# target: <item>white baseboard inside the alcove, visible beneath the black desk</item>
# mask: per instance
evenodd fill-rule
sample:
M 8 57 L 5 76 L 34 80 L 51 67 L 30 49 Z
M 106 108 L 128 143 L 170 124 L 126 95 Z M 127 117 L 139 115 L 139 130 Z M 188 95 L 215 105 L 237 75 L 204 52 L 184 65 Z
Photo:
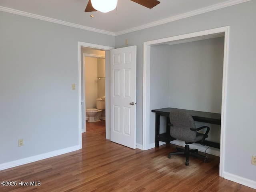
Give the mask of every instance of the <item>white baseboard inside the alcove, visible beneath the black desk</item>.
M 171 141 L 170 143 L 178 145 L 178 146 L 185 147 L 184 141 L 174 140 L 174 141 Z M 159 142 L 159 146 L 164 145 L 164 144 L 166 144 L 166 143 L 162 142 L 162 141 Z M 149 147 L 150 147 L 150 149 L 155 148 L 155 143 L 150 144 Z M 205 150 L 208 146 L 203 146 L 203 145 L 200 145 L 200 144 L 190 144 L 189 147 L 191 149 L 198 149 L 198 151 L 200 151 L 200 152 L 205 152 Z M 220 149 L 210 147 L 206 150 L 206 153 L 211 154 L 211 155 L 215 155 L 215 156 L 220 156 Z

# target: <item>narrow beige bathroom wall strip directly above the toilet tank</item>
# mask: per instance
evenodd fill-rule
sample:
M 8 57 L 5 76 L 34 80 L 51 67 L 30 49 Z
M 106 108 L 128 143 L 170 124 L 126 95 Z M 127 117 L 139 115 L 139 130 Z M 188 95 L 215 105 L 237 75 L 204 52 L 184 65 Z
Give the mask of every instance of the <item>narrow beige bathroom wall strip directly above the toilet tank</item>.
M 105 59 L 98 58 L 98 98 L 105 96 Z

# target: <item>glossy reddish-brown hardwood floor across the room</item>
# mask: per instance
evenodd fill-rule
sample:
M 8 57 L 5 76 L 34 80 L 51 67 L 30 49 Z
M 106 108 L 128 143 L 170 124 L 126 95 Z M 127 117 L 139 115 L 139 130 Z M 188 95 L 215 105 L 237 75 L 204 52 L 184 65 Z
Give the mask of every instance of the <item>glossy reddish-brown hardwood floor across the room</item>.
M 104 121 L 87 123 L 82 150 L 0 171 L 0 192 L 256 192 L 219 177 L 219 158 L 172 156 L 174 145 L 133 150 L 105 139 Z M 30 182 L 40 186 L 30 186 Z M 18 186 L 29 182 L 29 186 Z

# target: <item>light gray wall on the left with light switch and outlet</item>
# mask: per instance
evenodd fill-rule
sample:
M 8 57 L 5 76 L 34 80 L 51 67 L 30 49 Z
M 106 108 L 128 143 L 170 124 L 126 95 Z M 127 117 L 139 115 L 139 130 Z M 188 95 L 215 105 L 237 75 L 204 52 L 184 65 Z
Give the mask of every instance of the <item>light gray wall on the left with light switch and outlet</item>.
M 0 164 L 79 145 L 78 41 L 115 37 L 6 12 L 0 29 Z

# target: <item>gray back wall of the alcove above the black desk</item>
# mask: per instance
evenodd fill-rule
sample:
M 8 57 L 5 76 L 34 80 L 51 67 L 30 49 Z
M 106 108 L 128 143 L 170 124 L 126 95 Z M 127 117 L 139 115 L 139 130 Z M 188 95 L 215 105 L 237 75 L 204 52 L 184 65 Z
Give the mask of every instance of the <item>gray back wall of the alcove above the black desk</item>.
M 224 37 L 170 46 L 170 106 L 221 113 Z

